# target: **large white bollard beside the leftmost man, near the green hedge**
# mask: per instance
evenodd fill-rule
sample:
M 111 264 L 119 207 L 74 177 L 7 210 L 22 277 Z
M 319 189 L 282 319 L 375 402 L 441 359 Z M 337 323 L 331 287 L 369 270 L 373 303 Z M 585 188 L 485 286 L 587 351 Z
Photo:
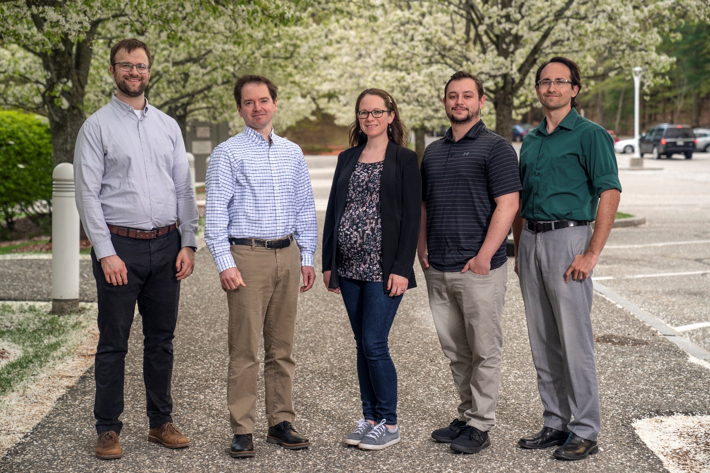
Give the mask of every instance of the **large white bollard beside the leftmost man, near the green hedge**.
M 79 212 L 74 200 L 74 165 L 52 173 L 52 312 L 79 311 Z

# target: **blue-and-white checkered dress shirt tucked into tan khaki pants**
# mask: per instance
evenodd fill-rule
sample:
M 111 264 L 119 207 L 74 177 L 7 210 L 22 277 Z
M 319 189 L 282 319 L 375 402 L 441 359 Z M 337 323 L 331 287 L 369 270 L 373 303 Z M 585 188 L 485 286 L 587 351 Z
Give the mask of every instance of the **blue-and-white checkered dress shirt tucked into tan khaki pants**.
M 204 241 L 221 273 L 236 268 L 229 238 L 281 239 L 290 234 L 301 266 L 313 266 L 318 238 L 306 161 L 297 144 L 249 126 L 212 151 L 204 190 Z

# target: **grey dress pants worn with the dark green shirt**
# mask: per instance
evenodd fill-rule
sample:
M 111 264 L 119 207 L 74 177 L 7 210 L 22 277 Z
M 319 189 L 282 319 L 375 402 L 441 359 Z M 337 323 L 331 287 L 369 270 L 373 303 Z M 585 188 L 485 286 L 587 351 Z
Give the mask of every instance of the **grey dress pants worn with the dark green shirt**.
M 589 246 L 592 229 L 568 227 L 520 236 L 518 272 L 545 427 L 587 440 L 599 435 L 599 384 L 591 327 L 591 278 L 564 283 L 564 272 Z

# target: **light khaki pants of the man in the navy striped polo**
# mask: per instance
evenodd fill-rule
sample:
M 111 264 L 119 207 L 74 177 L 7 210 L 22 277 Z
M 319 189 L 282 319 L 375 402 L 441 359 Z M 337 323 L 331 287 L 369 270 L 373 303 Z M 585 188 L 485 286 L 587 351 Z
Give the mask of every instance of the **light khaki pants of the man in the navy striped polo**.
M 508 266 L 491 269 L 487 276 L 444 273 L 430 266 L 424 276 L 439 342 L 451 361 L 461 398 L 459 420 L 491 430 L 501 385 L 501 317 Z

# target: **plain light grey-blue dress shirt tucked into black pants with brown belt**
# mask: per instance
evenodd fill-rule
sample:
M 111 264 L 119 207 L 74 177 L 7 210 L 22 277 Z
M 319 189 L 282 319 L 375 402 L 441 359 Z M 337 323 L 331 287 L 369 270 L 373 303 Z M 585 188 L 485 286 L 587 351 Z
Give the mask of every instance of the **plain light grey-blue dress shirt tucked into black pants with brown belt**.
M 116 254 L 107 223 L 150 230 L 178 222 L 195 247 L 197 202 L 178 122 L 114 95 L 84 121 L 74 151 L 76 202 L 97 259 Z

